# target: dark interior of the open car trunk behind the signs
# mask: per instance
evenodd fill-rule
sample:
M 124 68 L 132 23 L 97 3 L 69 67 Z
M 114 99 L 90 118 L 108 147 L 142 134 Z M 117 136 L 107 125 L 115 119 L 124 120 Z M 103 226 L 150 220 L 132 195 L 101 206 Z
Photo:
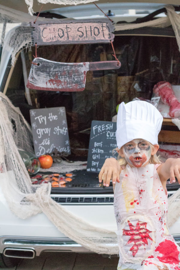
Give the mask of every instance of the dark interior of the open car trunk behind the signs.
M 120 69 L 88 71 L 85 90 L 81 92 L 30 89 L 32 105 L 27 100 L 23 74 L 29 74 L 35 47 L 32 47 L 32 52 L 23 50 L 14 67 L 6 95 L 14 106 L 20 108 L 29 124 L 30 109 L 65 107 L 71 147 L 71 155 L 67 158 L 70 161 L 84 161 L 86 165 L 92 120 L 112 121 L 116 115 L 116 106 L 122 101 L 129 102 L 139 97 L 150 100 L 153 86 L 159 81 L 179 84 L 179 50 L 173 29 L 145 28 L 115 32 L 113 45 L 122 65 Z M 102 43 L 39 46 L 37 49 L 38 57 L 59 62 L 114 60 L 112 54 L 112 46 Z M 2 87 L 3 83 L 1 91 Z M 169 128 L 178 131 L 176 126 Z M 161 143 L 164 142 L 160 142 L 160 148 Z M 57 172 L 49 171 L 49 174 L 52 173 Z M 63 188 L 52 187 L 52 194 L 113 194 L 112 183 L 110 187 L 103 187 L 98 182 L 98 173 L 87 172 L 85 166 L 84 170 L 75 170 L 73 174 L 73 180 Z M 167 184 L 167 188 L 176 190 L 178 185 Z M 76 199 L 76 202 L 79 200 Z M 99 201 L 94 199 L 94 202 L 100 201 L 105 202 L 105 198 Z M 106 199 L 106 202 L 113 202 L 113 199 Z

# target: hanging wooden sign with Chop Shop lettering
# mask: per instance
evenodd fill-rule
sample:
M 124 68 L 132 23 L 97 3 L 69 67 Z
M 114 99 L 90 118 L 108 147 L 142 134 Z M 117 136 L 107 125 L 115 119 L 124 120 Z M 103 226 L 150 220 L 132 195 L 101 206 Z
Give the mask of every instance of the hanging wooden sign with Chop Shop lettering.
M 114 40 L 109 19 L 38 21 L 30 23 L 32 45 L 108 43 Z

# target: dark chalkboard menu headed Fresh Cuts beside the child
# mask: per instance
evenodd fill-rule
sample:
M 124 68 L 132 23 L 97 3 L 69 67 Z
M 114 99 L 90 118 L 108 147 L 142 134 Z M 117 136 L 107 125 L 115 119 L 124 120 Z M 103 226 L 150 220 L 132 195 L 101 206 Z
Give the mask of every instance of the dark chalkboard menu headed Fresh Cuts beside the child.
M 116 147 L 116 122 L 92 121 L 87 171 L 99 173 L 106 158 L 117 157 Z

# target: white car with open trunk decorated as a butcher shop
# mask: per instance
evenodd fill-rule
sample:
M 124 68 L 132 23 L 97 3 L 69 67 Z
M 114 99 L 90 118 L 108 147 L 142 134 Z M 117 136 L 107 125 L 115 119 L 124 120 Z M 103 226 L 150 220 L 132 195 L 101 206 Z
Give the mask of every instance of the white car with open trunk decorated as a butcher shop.
M 160 1 L 162 2 L 162 1 Z M 98 4 L 98 1 L 96 2 Z M 3 3 L 2 3 L 3 4 Z M 172 1 L 171 1 L 172 4 Z M 178 9 L 178 3 L 174 3 Z M 120 22 L 146 21 L 156 10 L 155 16 L 166 16 L 164 4 L 156 3 L 104 3 L 101 9 Z M 51 13 L 73 19 L 104 18 L 93 4 L 63 7 Z M 55 15 L 54 15 L 55 16 Z M 11 66 L 11 52 L 3 48 L 0 62 L 0 91 L 6 93 L 13 105 L 19 107 L 30 124 L 29 110 L 45 107 L 66 108 L 71 145 L 70 160 L 87 161 L 89 135 L 92 120 L 111 121 L 116 106 L 135 97 L 150 99 L 152 88 L 160 80 L 178 84 L 180 68 L 179 51 L 172 27 L 144 27 L 115 31 L 114 48 L 121 62 L 118 70 L 100 70 L 87 73 L 85 90 L 79 93 L 34 91 L 26 87 L 32 52 L 20 48 L 16 64 Z M 18 39 L 18 36 L 17 36 Z M 52 61 L 100 61 L 112 59 L 110 44 L 80 44 L 39 46 L 39 57 Z M 114 59 L 113 59 L 114 60 Z M 176 130 L 176 129 L 175 129 Z M 65 188 L 53 187 L 51 197 L 74 215 L 99 228 L 108 228 L 116 245 L 116 220 L 113 210 L 113 186 L 103 187 L 98 173 L 76 170 L 72 182 Z M 179 188 L 175 183 L 167 185 L 169 196 Z M 23 203 L 23 202 L 22 202 Z M 17 263 L 14 258 L 34 258 L 43 251 L 91 252 L 61 233 L 45 214 L 20 219 L 9 208 L 3 190 L 0 190 L 0 268 Z M 180 243 L 180 219 L 170 227 L 170 233 Z

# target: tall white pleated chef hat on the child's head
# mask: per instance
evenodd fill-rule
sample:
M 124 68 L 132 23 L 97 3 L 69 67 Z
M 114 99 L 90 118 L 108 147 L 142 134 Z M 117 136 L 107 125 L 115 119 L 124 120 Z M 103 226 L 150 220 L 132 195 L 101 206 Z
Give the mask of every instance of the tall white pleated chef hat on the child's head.
M 154 105 L 147 101 L 131 101 L 119 105 L 116 141 L 120 149 L 134 139 L 158 144 L 163 117 Z

